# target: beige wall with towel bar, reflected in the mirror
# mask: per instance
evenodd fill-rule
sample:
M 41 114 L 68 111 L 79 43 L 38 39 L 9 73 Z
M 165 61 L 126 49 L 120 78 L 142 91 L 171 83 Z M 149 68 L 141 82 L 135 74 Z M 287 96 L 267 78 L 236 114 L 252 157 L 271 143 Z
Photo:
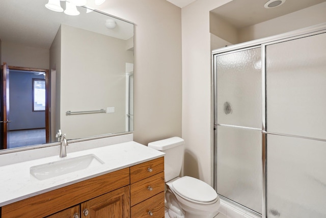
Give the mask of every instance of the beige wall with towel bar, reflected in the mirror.
M 126 46 L 123 39 L 61 25 L 60 127 L 67 139 L 125 131 Z M 66 115 L 107 107 L 115 112 Z

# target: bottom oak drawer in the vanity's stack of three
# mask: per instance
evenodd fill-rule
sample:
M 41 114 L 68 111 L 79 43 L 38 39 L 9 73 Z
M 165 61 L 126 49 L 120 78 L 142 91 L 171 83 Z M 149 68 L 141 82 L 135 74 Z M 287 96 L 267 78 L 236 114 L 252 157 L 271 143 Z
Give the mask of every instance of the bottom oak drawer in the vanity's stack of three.
M 164 217 L 164 191 L 131 207 L 131 218 Z

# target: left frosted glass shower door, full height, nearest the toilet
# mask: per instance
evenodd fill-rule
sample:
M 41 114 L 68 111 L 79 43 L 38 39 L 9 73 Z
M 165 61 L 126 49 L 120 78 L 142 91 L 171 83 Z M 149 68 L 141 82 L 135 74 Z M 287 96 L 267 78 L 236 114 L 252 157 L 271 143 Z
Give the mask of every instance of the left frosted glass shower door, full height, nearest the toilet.
M 262 213 L 261 49 L 214 56 L 216 191 Z

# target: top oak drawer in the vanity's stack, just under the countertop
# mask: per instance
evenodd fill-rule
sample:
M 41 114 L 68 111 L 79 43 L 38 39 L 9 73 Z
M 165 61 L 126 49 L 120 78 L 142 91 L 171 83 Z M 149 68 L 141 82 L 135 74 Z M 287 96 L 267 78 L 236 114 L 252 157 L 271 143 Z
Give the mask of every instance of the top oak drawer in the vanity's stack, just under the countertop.
M 164 171 L 164 157 L 130 167 L 130 183 L 138 182 Z

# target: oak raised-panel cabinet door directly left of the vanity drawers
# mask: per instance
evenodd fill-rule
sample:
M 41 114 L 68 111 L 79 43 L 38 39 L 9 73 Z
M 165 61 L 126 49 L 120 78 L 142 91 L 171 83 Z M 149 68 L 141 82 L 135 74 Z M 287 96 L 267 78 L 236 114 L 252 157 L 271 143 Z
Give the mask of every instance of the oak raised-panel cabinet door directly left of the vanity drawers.
M 130 187 L 125 186 L 82 203 L 81 217 L 130 217 Z

